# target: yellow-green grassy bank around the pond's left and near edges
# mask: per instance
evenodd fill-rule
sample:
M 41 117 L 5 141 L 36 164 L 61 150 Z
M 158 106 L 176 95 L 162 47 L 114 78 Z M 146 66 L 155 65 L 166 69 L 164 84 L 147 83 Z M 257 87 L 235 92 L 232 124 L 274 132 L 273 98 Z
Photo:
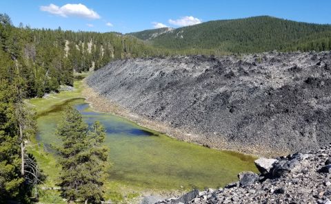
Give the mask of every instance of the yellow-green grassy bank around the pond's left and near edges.
M 37 117 L 48 113 L 56 106 L 63 104 L 70 104 L 70 100 L 82 98 L 81 90 L 83 89 L 81 78 L 74 82 L 74 91 L 61 91 L 60 93 L 50 93 L 46 98 L 32 98 L 26 100 L 37 112 Z M 37 144 L 37 139 L 32 138 L 32 144 Z M 39 185 L 39 202 L 40 203 L 66 203 L 60 196 L 59 190 L 43 190 L 47 188 L 57 187 L 58 178 L 61 167 L 57 163 L 57 156 L 48 152 L 43 144 L 32 146 L 28 150 L 37 159 L 37 162 L 46 174 L 47 179 L 44 183 Z M 135 190 L 132 190 L 121 183 L 115 181 L 105 183 L 106 199 L 110 199 L 116 203 L 126 203 L 132 201 L 135 197 L 139 196 Z

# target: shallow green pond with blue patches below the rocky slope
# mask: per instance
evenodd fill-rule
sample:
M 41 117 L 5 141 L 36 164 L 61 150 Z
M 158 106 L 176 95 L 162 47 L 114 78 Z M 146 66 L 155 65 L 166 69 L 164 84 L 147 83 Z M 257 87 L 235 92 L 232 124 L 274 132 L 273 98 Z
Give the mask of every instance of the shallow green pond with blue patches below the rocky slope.
M 254 158 L 236 152 L 212 150 L 148 131 L 121 117 L 98 113 L 83 99 L 70 100 L 39 115 L 37 140 L 58 144 L 54 136 L 65 105 L 75 106 L 84 120 L 99 120 L 106 127 L 110 148 L 110 180 L 159 190 L 217 188 L 237 180 L 237 173 L 255 171 Z

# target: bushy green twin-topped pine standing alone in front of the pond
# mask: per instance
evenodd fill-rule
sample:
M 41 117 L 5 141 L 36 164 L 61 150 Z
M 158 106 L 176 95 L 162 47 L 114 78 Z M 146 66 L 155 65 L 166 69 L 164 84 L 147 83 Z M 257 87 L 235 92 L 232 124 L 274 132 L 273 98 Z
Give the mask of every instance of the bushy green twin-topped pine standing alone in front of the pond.
M 57 128 L 63 141 L 58 148 L 62 166 L 62 196 L 69 202 L 99 203 L 103 196 L 103 180 L 107 168 L 108 149 L 102 146 L 105 130 L 99 122 L 88 125 L 79 111 L 68 107 Z

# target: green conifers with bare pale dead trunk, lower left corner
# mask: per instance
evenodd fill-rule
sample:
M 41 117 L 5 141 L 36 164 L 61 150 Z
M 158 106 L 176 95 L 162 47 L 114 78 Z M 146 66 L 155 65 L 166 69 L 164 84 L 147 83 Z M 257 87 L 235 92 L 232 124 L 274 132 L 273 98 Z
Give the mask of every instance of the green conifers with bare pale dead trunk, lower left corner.
M 36 163 L 30 162 L 26 144 L 34 135 L 34 113 L 25 106 L 17 86 L 0 79 L 0 203 L 10 199 L 26 201 L 31 185 L 39 181 Z M 25 182 L 24 182 L 25 181 Z

